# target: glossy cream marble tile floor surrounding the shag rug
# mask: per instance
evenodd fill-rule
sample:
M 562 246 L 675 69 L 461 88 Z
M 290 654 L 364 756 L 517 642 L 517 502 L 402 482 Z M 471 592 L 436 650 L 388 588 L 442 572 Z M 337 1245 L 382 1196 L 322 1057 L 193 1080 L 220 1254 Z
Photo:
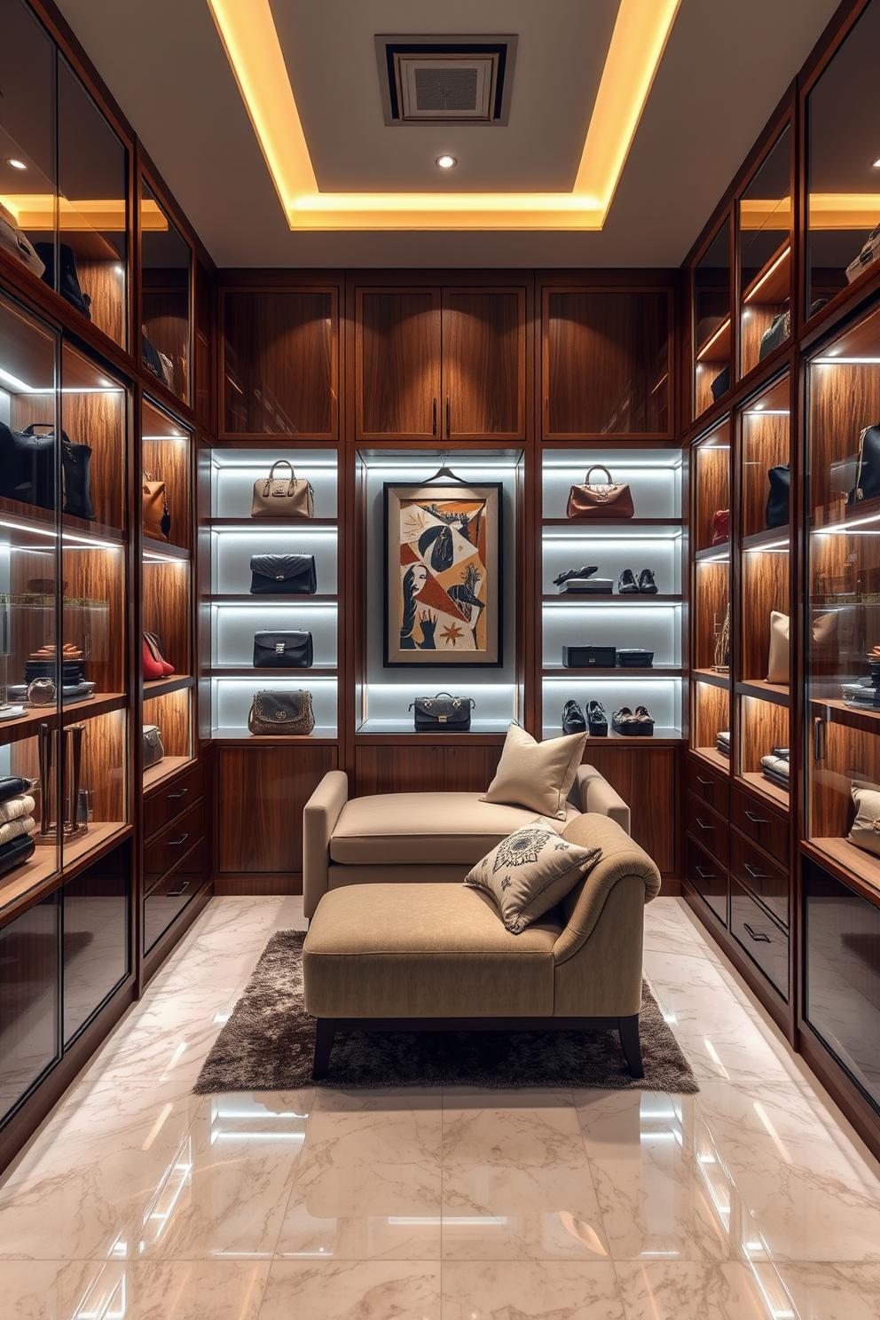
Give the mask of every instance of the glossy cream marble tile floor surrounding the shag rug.
M 190 1094 L 299 900 L 216 899 L 0 1181 L 0 1316 L 875 1320 L 880 1168 L 686 907 L 701 1093 Z

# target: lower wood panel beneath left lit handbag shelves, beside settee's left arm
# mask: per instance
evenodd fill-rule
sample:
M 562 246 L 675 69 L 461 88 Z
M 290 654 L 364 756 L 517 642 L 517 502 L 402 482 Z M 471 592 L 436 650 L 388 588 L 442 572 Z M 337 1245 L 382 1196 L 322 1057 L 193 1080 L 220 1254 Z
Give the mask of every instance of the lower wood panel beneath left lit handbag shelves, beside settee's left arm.
M 335 747 L 220 747 L 218 870 L 302 871 L 302 808 Z

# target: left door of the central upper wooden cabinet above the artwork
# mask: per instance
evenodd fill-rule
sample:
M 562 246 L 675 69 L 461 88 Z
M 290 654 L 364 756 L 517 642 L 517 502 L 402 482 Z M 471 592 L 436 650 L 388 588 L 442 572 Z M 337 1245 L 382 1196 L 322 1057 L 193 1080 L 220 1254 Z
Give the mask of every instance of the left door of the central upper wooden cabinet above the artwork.
M 359 289 L 358 440 L 441 434 L 441 290 Z

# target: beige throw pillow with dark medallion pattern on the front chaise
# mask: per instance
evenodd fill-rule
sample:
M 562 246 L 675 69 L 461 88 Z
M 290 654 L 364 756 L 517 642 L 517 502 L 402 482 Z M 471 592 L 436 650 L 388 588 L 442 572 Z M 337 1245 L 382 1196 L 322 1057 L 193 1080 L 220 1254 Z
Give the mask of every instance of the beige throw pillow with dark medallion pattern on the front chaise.
M 464 884 L 488 895 L 508 931 L 520 935 L 570 894 L 600 857 L 600 847 L 569 843 L 538 816 L 487 853 Z

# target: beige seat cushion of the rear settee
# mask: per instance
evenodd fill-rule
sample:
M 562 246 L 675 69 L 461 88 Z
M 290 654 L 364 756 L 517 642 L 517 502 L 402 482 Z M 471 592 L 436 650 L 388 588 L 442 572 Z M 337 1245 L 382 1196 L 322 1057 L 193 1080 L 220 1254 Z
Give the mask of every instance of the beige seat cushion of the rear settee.
M 570 803 L 562 832 L 579 812 Z M 330 838 L 330 858 L 343 866 L 474 866 L 537 812 L 482 803 L 479 793 L 376 793 L 352 797 Z

